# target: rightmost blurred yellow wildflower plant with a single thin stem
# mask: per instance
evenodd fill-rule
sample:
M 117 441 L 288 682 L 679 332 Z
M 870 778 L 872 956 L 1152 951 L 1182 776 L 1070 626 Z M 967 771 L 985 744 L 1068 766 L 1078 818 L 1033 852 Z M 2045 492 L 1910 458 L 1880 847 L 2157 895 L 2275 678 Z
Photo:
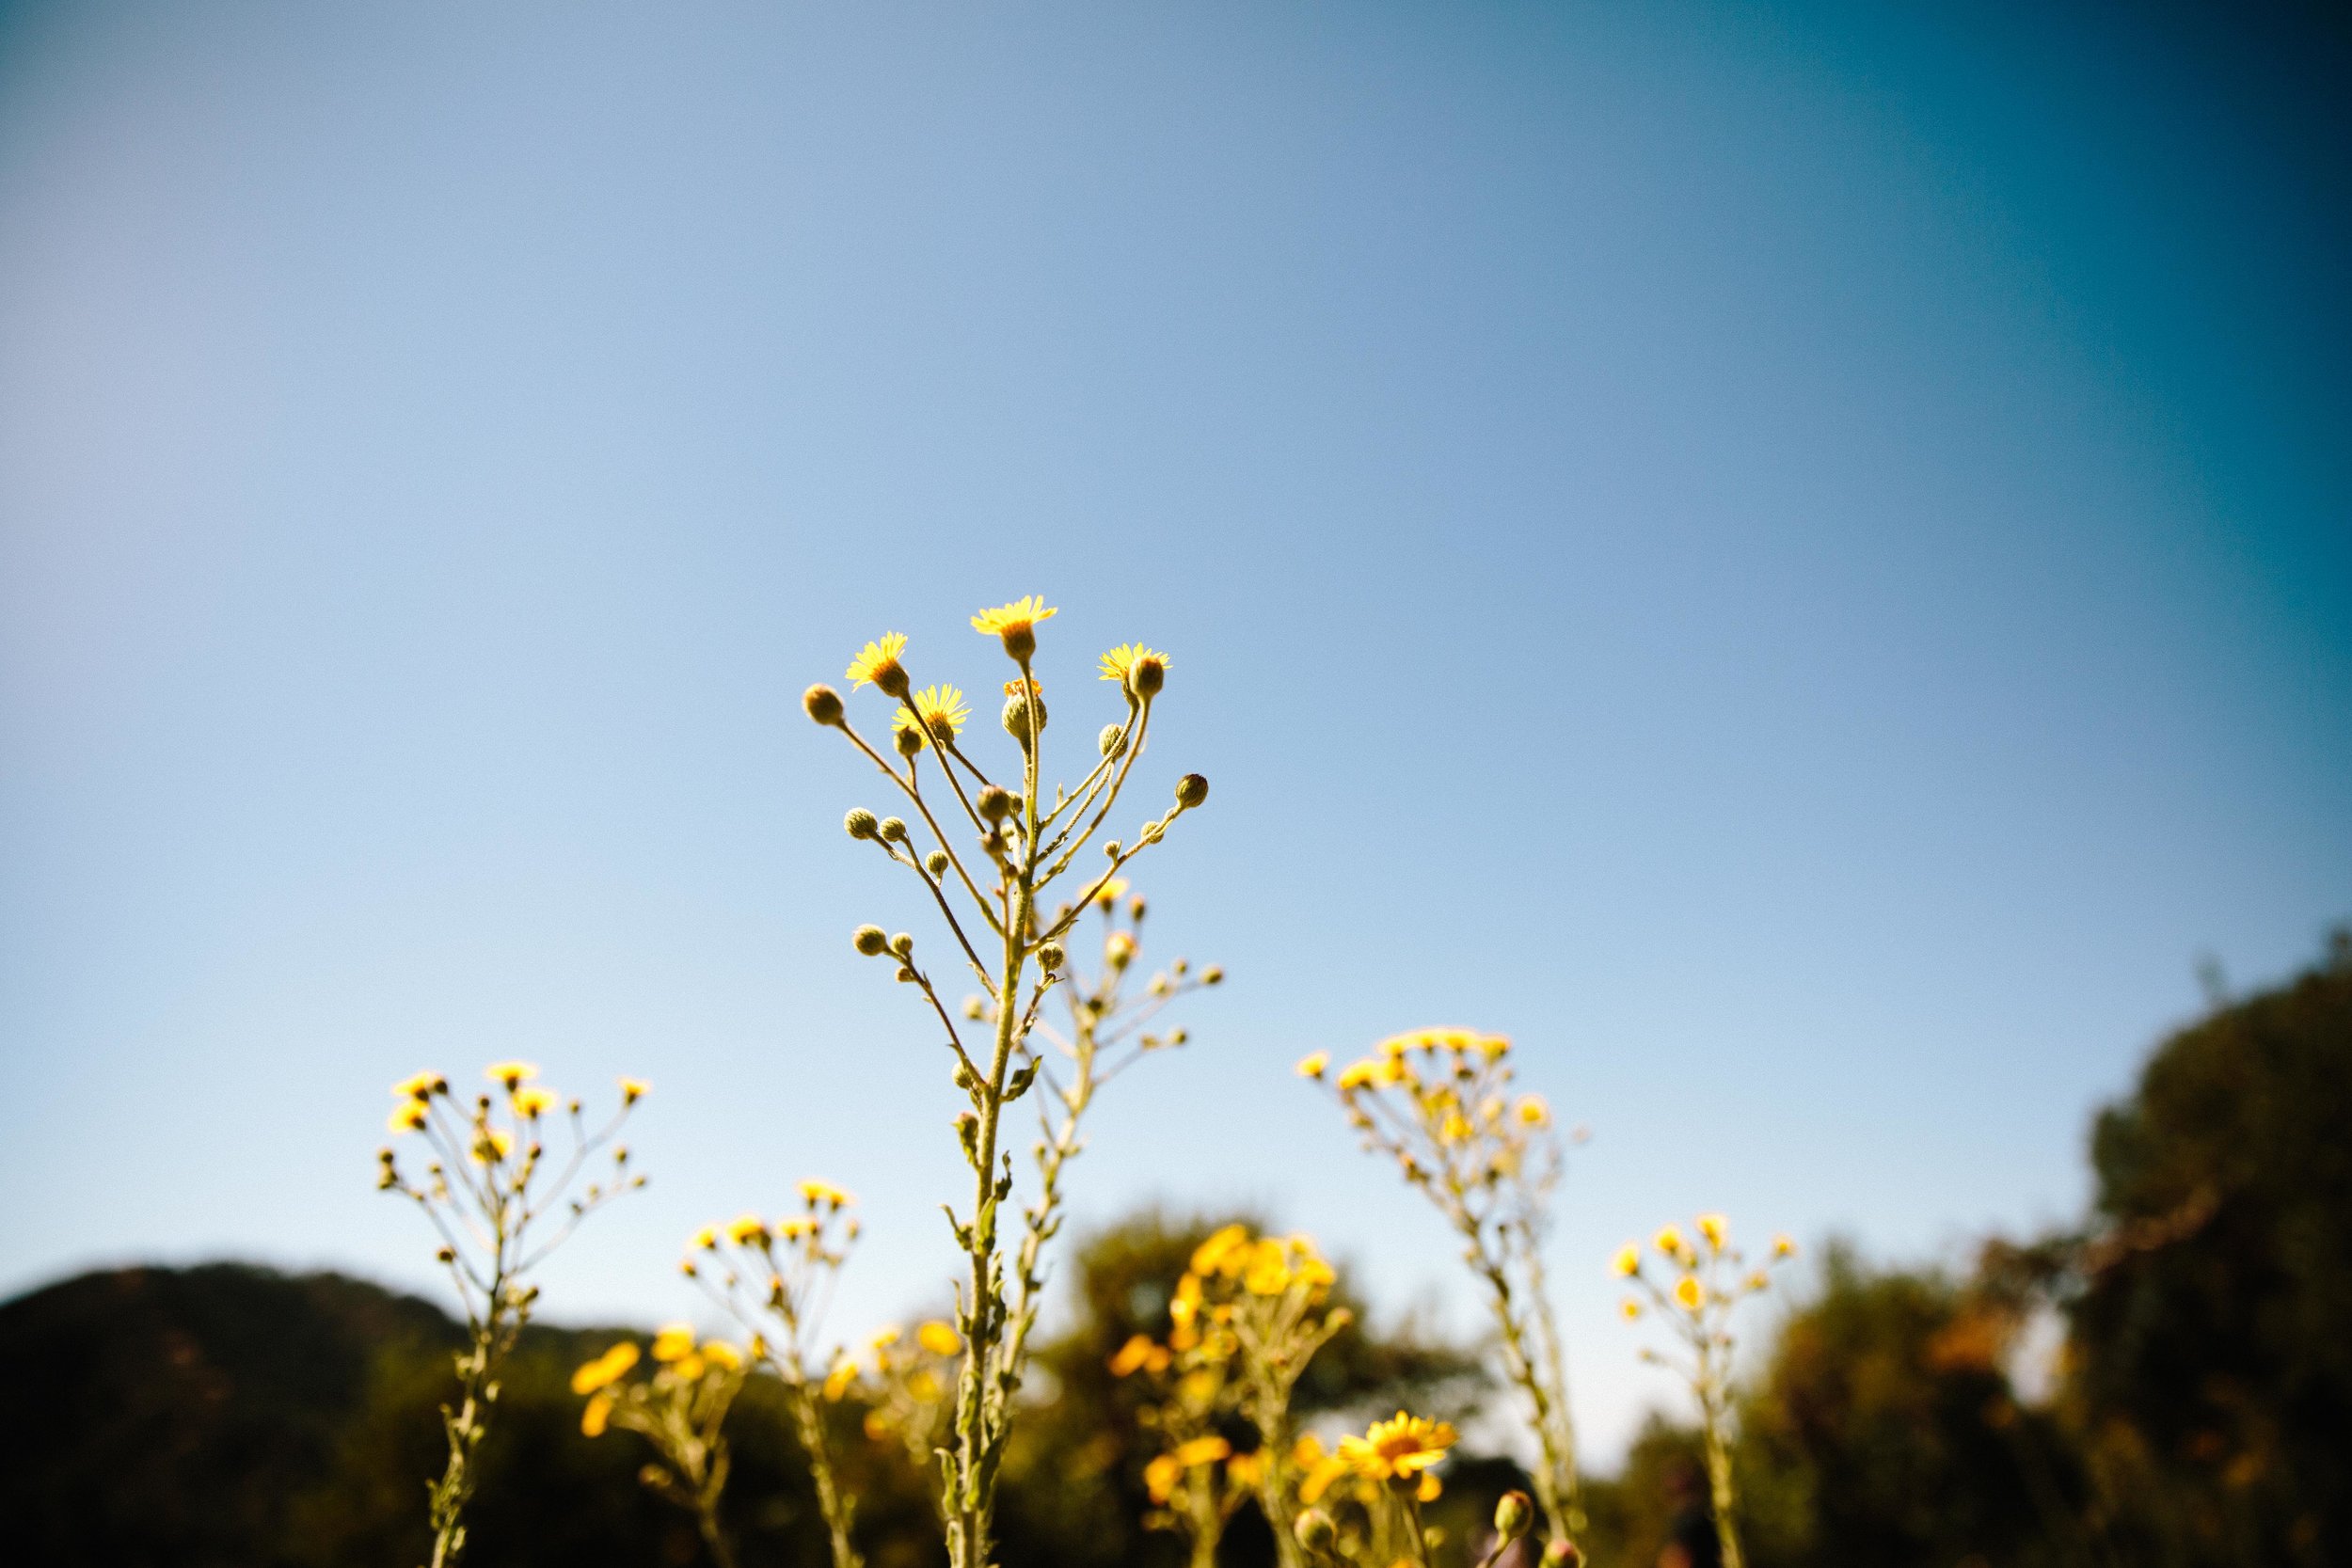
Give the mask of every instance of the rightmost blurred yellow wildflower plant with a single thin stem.
M 1745 1255 L 1731 1246 L 1731 1222 L 1724 1215 L 1703 1213 L 1693 1229 L 1696 1244 L 1679 1225 L 1661 1227 L 1651 1237 L 1656 1265 L 1644 1260 L 1639 1241 L 1628 1241 L 1609 1260 L 1609 1269 L 1639 1291 L 1625 1298 L 1625 1319 L 1639 1321 L 1656 1312 L 1677 1340 L 1675 1352 L 1644 1347 L 1642 1359 L 1682 1373 L 1698 1401 L 1715 1540 L 1724 1568 L 1740 1568 L 1740 1537 L 1733 1523 L 1738 1486 L 1731 1474 L 1731 1316 L 1750 1295 L 1771 1288 L 1771 1269 L 1795 1258 L 1797 1244 L 1773 1237 L 1764 1267 L 1750 1269 Z

